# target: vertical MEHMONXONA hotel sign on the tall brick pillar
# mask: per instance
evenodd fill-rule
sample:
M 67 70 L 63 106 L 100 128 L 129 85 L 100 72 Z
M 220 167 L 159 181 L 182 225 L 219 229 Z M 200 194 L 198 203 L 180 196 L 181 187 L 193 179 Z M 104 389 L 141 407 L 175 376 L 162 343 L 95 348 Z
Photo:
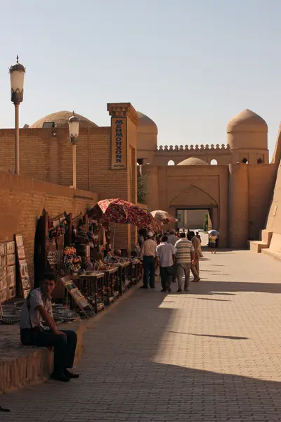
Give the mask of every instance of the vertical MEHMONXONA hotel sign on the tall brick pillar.
M 127 168 L 127 120 L 126 117 L 112 117 L 110 140 L 110 169 Z

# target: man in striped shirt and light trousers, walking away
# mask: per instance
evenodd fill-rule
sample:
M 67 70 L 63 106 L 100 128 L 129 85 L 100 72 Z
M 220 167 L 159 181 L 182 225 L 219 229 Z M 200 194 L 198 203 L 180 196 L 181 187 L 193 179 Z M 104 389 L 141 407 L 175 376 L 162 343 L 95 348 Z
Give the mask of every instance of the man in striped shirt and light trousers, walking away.
M 185 233 L 181 233 L 181 238 L 176 242 L 176 271 L 178 278 L 178 293 L 183 291 L 183 273 L 185 276 L 184 290 L 189 291 L 190 267 L 195 263 L 195 249 L 192 242 L 185 238 Z M 193 272 L 193 271 L 192 271 Z M 199 279 L 198 274 L 193 273 L 195 280 Z

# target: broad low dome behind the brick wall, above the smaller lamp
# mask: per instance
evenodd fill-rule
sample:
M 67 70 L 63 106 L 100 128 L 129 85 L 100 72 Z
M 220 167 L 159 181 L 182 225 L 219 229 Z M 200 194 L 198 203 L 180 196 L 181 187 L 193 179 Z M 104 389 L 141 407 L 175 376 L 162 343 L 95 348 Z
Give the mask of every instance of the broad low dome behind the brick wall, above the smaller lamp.
M 51 113 L 43 117 L 37 122 L 30 125 L 31 129 L 44 127 L 44 123 L 48 123 L 46 127 L 68 127 L 68 119 L 73 115 L 72 111 L 57 111 L 56 113 Z M 86 119 L 86 117 L 81 116 L 75 113 L 76 117 L 79 119 L 80 127 L 98 127 L 98 124 L 91 122 L 91 120 Z M 51 126 L 53 122 L 53 126 Z

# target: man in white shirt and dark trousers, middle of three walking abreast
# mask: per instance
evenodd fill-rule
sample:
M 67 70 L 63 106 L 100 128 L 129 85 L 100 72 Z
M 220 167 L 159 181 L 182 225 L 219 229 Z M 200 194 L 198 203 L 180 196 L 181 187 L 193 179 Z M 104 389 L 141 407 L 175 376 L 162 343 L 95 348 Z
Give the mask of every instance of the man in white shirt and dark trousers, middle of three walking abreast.
M 156 256 L 160 267 L 162 292 L 171 292 L 175 255 L 176 248 L 171 243 L 168 243 L 168 236 L 163 236 L 162 242 L 156 248 Z

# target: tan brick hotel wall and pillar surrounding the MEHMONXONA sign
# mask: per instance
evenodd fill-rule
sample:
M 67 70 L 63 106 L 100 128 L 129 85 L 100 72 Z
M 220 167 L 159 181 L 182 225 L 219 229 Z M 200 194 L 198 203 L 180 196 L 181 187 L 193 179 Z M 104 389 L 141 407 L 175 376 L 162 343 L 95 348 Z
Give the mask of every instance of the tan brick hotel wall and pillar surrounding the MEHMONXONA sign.
M 98 199 L 136 203 L 136 110 L 130 103 L 108 104 L 110 115 L 127 117 L 127 168 L 110 170 L 110 127 L 79 129 L 77 188 L 98 192 Z M 15 168 L 13 129 L 0 129 L 0 171 Z M 68 128 L 20 129 L 20 176 L 72 186 L 72 145 Z M 136 245 L 136 228 L 117 224 L 116 246 Z

